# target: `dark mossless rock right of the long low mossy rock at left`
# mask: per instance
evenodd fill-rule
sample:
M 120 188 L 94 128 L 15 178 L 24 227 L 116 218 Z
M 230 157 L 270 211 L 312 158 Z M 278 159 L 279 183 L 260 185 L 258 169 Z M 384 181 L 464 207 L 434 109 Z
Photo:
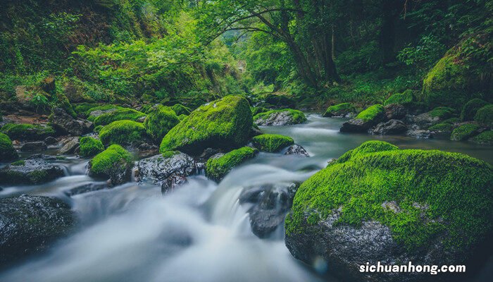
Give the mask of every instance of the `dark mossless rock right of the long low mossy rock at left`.
M 50 117 L 55 130 L 61 134 L 81 136 L 91 132 L 94 125 L 90 121 L 75 119 L 63 109 L 55 109 Z

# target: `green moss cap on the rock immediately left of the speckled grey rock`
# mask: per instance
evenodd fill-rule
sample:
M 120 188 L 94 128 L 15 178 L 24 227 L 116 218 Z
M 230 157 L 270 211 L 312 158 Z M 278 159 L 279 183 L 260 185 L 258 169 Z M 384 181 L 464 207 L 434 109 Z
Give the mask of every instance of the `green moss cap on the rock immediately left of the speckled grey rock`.
M 90 161 L 93 176 L 111 176 L 116 169 L 132 165 L 132 156 L 120 145 L 111 145 Z

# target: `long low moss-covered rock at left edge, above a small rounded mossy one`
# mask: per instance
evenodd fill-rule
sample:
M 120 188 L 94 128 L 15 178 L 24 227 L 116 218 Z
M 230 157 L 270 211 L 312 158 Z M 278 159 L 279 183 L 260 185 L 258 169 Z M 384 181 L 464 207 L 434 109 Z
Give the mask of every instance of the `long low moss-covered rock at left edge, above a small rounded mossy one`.
M 7 123 L 0 129 L 1 133 L 8 135 L 13 140 L 35 141 L 43 140 L 48 136 L 55 135 L 51 126 L 33 125 L 27 123 Z

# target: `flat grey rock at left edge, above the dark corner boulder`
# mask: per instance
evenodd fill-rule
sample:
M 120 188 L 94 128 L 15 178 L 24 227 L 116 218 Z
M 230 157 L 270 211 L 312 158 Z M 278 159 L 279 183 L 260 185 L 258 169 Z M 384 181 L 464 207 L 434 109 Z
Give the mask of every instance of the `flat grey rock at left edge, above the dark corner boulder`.
M 47 183 L 64 175 L 63 169 L 50 164 L 42 155 L 31 156 L 23 161 L 15 161 L 0 169 L 2 183 L 12 185 L 36 185 Z

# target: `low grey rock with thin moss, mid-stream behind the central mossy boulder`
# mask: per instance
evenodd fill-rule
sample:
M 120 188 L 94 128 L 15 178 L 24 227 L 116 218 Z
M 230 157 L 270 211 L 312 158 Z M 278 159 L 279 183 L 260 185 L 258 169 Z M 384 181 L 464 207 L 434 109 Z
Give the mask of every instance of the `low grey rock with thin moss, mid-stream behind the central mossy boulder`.
M 302 111 L 293 109 L 271 110 L 254 116 L 256 125 L 292 125 L 304 123 L 306 116 Z

